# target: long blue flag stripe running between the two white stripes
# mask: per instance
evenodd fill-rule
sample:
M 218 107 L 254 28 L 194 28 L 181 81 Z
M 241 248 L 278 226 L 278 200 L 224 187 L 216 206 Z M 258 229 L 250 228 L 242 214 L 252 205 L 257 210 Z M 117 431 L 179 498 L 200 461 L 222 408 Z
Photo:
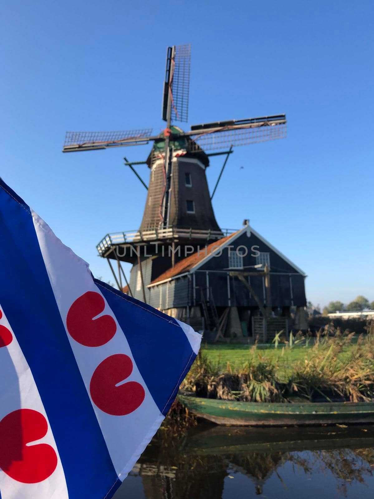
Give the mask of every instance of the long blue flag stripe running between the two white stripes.
M 69 499 L 102 499 L 117 474 L 66 335 L 30 210 L 0 180 L 0 303 L 47 413 Z M 117 483 L 118 482 L 118 483 Z

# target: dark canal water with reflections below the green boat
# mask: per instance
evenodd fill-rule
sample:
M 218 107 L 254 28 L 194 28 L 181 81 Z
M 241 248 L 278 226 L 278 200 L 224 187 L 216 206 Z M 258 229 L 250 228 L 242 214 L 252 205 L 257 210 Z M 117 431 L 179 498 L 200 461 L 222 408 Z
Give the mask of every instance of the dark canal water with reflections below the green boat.
M 374 426 L 159 430 L 115 499 L 374 498 Z

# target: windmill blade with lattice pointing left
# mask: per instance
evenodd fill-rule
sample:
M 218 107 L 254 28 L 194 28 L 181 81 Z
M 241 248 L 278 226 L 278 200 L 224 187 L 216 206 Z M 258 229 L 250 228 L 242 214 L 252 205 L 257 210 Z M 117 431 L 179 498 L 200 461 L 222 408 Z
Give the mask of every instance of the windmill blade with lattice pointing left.
M 147 144 L 152 128 L 115 132 L 66 132 L 63 152 Z

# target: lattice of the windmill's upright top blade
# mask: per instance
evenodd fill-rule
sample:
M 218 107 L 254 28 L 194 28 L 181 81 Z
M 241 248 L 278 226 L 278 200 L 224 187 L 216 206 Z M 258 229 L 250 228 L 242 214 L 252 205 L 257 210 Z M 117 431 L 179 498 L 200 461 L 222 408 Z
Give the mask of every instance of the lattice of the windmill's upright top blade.
M 172 120 L 188 121 L 191 44 L 176 46 L 172 75 Z

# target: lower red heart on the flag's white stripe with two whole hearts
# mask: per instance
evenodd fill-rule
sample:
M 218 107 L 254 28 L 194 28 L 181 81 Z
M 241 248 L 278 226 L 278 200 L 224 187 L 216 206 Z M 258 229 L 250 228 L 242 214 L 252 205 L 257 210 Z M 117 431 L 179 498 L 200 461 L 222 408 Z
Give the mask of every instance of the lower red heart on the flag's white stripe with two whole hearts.
M 125 416 L 134 412 L 142 404 L 146 395 L 143 386 L 137 381 L 128 381 L 133 370 L 128 355 L 118 353 L 103 360 L 95 369 L 90 383 L 90 394 L 94 404 L 112 416 Z

